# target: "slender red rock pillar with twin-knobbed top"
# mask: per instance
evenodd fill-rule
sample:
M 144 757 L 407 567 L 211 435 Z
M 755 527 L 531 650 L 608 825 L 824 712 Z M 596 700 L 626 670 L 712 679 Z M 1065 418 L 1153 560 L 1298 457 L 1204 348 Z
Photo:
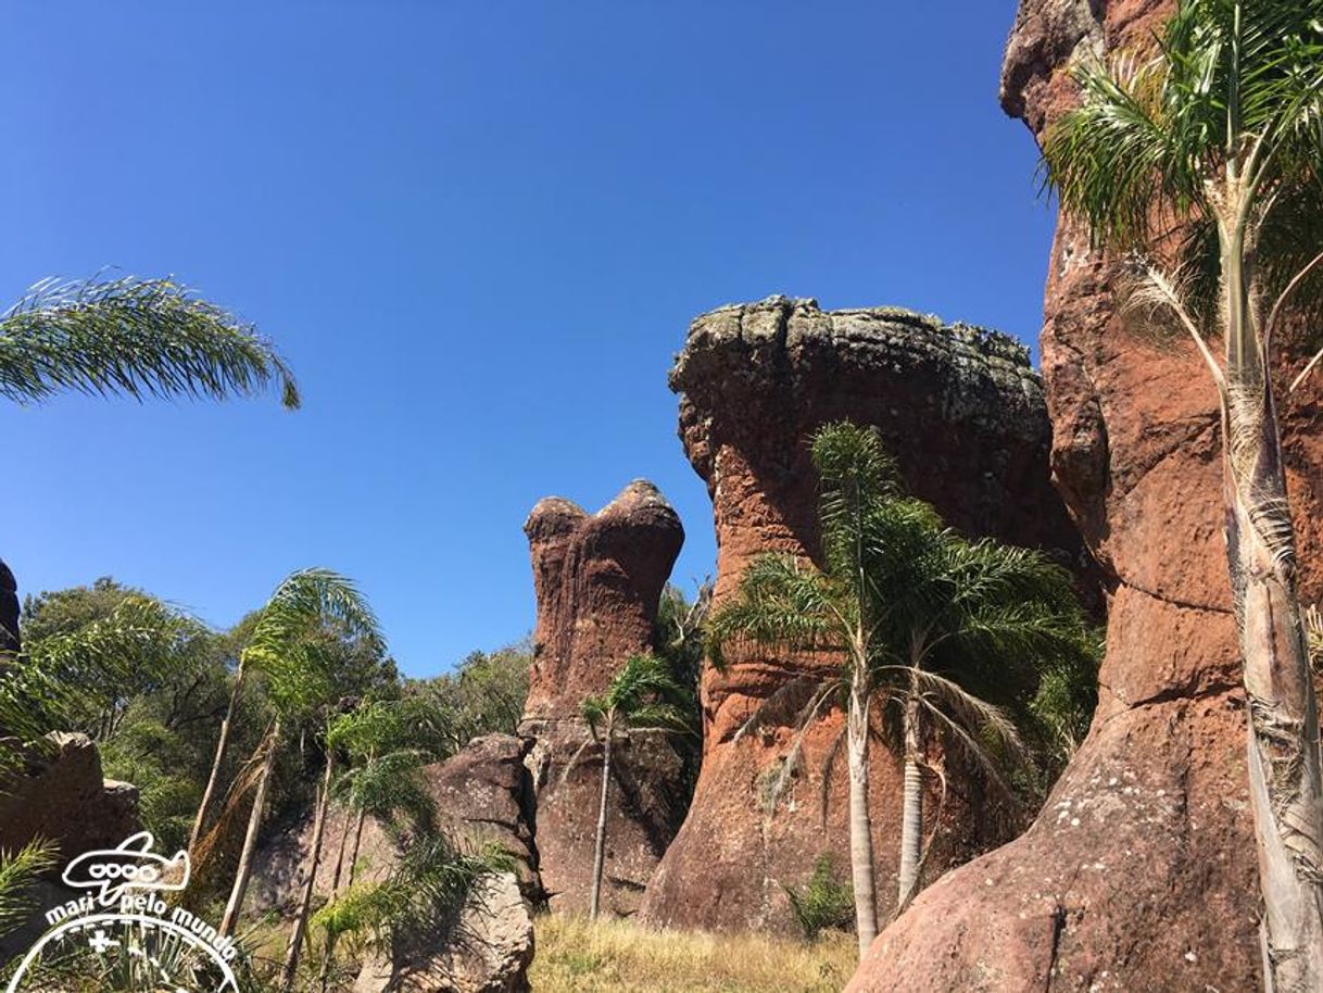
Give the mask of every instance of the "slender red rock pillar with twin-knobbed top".
M 635 481 L 597 514 L 552 496 L 524 524 L 537 628 L 520 733 L 537 788 L 537 849 L 553 910 L 585 910 L 601 755 L 579 718 L 620 665 L 652 646 L 662 588 L 684 542 L 652 483 Z M 632 732 L 613 756 L 603 908 L 630 914 L 684 817 L 681 757 L 665 736 Z

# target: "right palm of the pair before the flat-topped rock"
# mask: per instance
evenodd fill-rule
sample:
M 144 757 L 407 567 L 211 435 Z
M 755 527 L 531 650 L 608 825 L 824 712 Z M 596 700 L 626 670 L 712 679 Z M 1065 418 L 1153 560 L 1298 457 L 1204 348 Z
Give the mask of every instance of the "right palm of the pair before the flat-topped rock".
M 900 524 L 905 532 L 890 531 Z M 1015 723 L 983 694 L 1089 651 L 1070 577 L 1040 552 L 991 539 L 970 542 L 937 520 L 878 515 L 869 540 L 882 549 L 875 573 L 885 610 L 873 661 L 877 691 L 901 731 L 905 763 L 897 910 L 918 892 L 921 768 L 930 744 L 960 753 L 1004 802 L 1016 796 L 1005 765 L 1032 768 Z M 897 555 L 896 552 L 900 552 Z M 943 780 L 945 789 L 945 780 Z

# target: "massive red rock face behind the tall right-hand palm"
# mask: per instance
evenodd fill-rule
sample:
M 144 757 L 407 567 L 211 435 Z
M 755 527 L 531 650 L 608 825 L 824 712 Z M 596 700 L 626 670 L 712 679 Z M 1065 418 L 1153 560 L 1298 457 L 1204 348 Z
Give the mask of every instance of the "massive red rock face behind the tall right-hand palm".
M 1021 4 L 1003 102 L 1036 136 L 1070 106 L 1077 46 L 1144 42 L 1167 11 L 1095 7 Z M 857 993 L 1261 989 L 1216 397 L 1183 343 L 1123 324 L 1113 279 L 1064 220 L 1043 372 L 1053 474 L 1110 588 L 1098 714 L 1033 826 L 925 891 L 873 945 Z M 1320 579 L 1319 418 L 1299 396 L 1283 412 L 1306 602 Z

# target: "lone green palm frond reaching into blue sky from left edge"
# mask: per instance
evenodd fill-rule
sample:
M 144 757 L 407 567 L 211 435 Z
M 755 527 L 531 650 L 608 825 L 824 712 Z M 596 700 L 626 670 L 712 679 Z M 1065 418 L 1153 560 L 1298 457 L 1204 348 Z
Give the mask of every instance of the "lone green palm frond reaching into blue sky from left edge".
M 0 396 L 19 402 L 62 389 L 222 399 L 271 384 L 298 408 L 271 343 L 169 278 L 44 279 L 0 316 Z

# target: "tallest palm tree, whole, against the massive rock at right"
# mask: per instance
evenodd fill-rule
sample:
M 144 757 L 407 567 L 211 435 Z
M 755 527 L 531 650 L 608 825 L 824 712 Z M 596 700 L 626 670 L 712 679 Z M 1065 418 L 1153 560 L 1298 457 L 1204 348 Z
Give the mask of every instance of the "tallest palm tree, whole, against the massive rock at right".
M 1080 66 L 1081 103 L 1043 147 L 1066 213 L 1129 254 L 1134 299 L 1189 336 L 1217 392 L 1263 972 L 1278 990 L 1323 988 L 1323 771 L 1273 384 L 1275 338 L 1323 301 L 1320 24 L 1323 0 L 1181 0 L 1151 57 Z

